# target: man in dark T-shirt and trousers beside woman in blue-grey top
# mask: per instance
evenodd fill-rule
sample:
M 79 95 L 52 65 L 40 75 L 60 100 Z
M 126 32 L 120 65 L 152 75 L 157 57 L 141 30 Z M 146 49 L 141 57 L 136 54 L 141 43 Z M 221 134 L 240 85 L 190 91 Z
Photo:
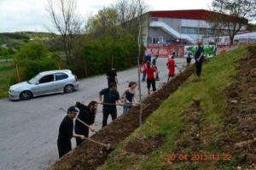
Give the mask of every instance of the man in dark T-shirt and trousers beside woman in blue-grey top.
M 110 83 L 109 88 L 104 88 L 99 93 L 99 99 L 102 103 L 102 95 L 104 96 L 103 99 L 103 120 L 102 120 L 102 127 L 107 126 L 108 123 L 108 116 L 111 115 L 112 120 L 117 118 L 117 110 L 116 110 L 116 103 L 121 105 L 119 102 L 119 92 L 116 89 L 115 83 Z

